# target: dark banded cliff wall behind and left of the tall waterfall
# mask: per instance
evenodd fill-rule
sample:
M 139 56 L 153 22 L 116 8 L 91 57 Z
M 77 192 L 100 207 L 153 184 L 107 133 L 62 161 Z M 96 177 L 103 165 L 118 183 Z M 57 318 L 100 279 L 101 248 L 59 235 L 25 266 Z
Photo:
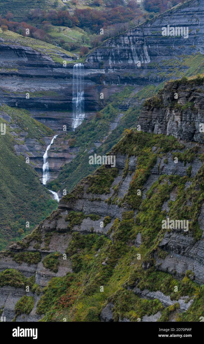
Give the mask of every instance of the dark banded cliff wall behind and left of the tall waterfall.
M 62 130 L 63 125 L 70 128 L 73 60 L 66 54 L 58 53 L 61 61 L 70 62 L 63 67 L 46 52 L 38 52 L 10 39 L 1 39 L 0 53 L 0 102 L 32 111 L 34 118 L 53 130 Z M 92 93 L 92 86 L 95 81 L 100 81 L 97 70 L 89 74 L 90 77 L 87 80 L 85 77 L 84 81 L 85 110 L 93 111 L 100 106 L 99 97 L 95 98 Z M 29 99 L 26 93 L 30 94 Z

